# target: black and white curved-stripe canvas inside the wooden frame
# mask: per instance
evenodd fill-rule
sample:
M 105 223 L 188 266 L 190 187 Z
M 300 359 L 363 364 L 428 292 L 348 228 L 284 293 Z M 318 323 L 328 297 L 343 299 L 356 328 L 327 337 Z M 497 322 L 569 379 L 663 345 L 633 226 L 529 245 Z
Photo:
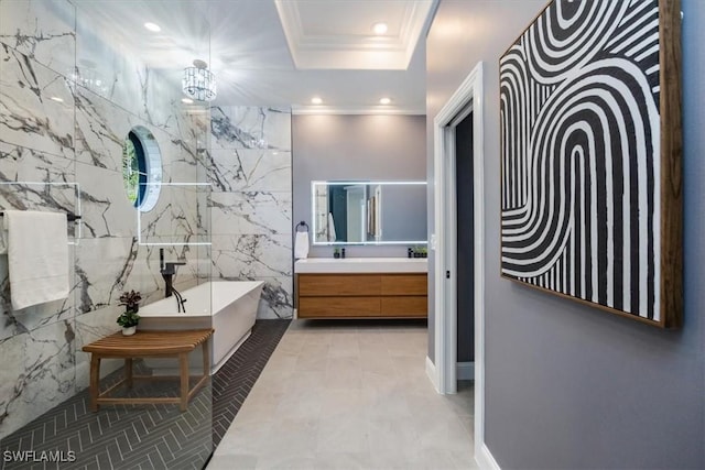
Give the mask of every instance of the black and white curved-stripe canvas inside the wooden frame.
M 500 59 L 501 274 L 660 321 L 655 0 L 555 0 Z

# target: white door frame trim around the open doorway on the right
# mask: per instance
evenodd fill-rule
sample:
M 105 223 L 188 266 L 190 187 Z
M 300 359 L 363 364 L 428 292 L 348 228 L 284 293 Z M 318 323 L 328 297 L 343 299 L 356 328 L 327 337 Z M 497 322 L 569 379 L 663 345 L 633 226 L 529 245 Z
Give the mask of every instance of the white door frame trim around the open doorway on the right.
M 475 442 L 485 442 L 485 210 L 484 210 L 484 127 L 482 63 L 463 80 L 436 114 L 434 127 L 434 226 L 435 226 L 435 373 L 438 393 L 456 392 L 457 292 L 455 262 L 457 248 L 455 193 L 455 125 L 458 117 L 473 113 L 474 173 L 474 262 L 475 262 Z M 445 272 L 451 271 L 449 282 Z

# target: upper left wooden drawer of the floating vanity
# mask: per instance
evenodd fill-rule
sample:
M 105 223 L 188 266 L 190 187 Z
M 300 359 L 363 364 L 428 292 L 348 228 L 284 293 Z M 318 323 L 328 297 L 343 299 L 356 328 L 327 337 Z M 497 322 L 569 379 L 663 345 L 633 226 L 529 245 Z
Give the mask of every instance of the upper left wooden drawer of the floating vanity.
M 299 274 L 300 296 L 375 296 L 380 293 L 379 274 Z

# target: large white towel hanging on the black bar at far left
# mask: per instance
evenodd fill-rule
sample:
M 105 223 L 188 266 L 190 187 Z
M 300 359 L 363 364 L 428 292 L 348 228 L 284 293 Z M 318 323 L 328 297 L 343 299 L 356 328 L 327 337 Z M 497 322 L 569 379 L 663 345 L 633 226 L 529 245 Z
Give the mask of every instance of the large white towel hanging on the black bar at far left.
M 68 297 L 66 214 L 6 210 L 12 308 Z

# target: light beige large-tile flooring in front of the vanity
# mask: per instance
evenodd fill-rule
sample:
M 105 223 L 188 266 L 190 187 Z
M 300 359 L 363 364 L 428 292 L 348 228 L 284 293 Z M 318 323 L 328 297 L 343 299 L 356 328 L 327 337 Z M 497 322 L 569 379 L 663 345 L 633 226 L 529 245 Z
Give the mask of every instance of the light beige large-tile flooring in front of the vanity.
M 473 386 L 438 395 L 419 323 L 292 321 L 208 470 L 468 469 Z

